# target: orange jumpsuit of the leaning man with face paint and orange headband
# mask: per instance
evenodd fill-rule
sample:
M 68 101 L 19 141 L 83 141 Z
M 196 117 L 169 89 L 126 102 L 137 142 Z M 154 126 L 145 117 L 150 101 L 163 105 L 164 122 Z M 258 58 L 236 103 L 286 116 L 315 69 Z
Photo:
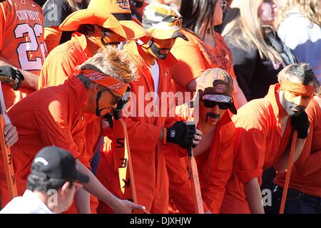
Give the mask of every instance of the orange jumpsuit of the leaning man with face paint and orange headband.
M 233 176 L 226 187 L 221 213 L 250 213 L 244 184 L 255 177 L 261 183 L 263 170 L 280 159 L 292 139 L 290 118 L 282 136 L 280 119 L 287 113 L 280 104 L 279 88 L 280 84 L 270 86 L 265 98 L 251 100 L 233 116 L 236 128 Z

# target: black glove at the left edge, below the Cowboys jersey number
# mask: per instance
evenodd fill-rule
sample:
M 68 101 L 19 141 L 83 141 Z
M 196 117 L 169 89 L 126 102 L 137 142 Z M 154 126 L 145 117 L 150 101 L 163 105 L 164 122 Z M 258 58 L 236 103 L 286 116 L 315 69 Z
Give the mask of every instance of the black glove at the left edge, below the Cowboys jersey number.
M 0 66 L 0 81 L 4 83 L 14 83 L 14 90 L 21 86 L 21 81 L 24 81 L 22 73 L 11 66 Z

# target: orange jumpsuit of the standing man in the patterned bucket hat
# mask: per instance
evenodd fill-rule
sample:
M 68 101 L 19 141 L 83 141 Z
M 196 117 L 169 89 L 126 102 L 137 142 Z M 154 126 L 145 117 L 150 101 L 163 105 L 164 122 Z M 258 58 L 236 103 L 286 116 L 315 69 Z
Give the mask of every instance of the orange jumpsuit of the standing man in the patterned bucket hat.
M 136 117 L 124 119 L 128 129 L 129 145 L 131 147 L 131 158 L 133 162 L 133 174 L 136 182 L 136 194 L 138 204 L 142 204 L 151 213 L 168 212 L 168 175 L 165 167 L 163 151 L 160 150 L 160 133 L 164 126 L 169 127 L 175 123 L 173 118 L 167 117 L 148 117 L 145 108 L 148 103 L 151 105 L 153 100 L 144 100 L 146 93 L 154 92 L 153 77 L 151 67 L 144 61 L 141 47 L 136 46 L 134 41 L 130 41 L 124 46 L 126 51 L 138 67 L 140 78 L 138 81 L 130 83 L 131 92 L 136 95 L 137 100 L 131 99 L 130 104 L 136 111 Z M 169 53 L 165 60 L 156 60 L 160 68 L 158 103 L 163 103 L 165 99 L 161 97 L 162 92 L 174 92 L 168 67 L 176 62 L 175 58 Z M 167 99 L 168 100 L 168 99 Z M 169 101 L 168 101 L 169 104 Z M 168 111 L 168 105 L 163 107 Z M 159 110 L 156 112 L 161 113 Z M 163 110 L 164 111 L 164 110 Z M 111 135 L 111 139 L 112 135 Z M 113 142 L 112 142 L 113 143 Z M 113 167 L 113 168 L 110 168 Z M 101 163 L 98 168 L 97 177 L 108 190 L 113 194 L 122 197 L 118 182 L 118 170 L 113 166 L 112 152 L 104 152 L 101 155 Z M 99 202 L 98 212 L 108 212 L 108 207 L 103 202 Z

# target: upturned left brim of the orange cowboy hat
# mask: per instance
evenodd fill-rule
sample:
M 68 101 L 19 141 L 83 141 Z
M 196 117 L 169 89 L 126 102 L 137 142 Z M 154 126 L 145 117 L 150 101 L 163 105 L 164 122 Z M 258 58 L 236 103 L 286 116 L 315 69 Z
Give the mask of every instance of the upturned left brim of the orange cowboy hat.
M 126 38 L 126 31 L 115 16 L 97 9 L 82 9 L 73 12 L 60 24 L 61 31 L 76 31 L 82 24 L 97 24 Z

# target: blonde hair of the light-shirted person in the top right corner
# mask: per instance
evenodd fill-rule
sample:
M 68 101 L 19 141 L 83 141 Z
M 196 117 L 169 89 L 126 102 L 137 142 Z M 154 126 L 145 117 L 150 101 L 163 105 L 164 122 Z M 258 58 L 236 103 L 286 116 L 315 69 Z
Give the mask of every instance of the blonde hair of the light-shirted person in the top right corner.
M 277 26 L 280 25 L 282 19 L 288 16 L 288 11 L 297 6 L 300 12 L 310 21 L 321 26 L 321 4 L 320 0 L 287 0 L 285 7 L 280 11 L 277 18 Z

